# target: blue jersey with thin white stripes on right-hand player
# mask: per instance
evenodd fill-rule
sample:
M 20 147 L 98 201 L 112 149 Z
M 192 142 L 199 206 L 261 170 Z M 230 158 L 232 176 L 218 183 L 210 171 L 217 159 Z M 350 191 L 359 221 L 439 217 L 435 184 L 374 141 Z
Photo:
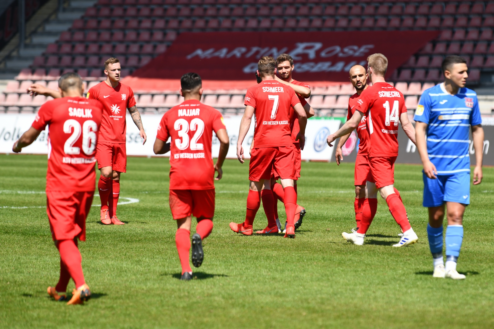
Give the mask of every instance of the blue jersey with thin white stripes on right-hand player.
M 460 88 L 451 95 L 444 83 L 429 88 L 422 94 L 413 120 L 428 124 L 427 152 L 438 175 L 470 172 L 470 126 L 482 123 L 475 91 Z

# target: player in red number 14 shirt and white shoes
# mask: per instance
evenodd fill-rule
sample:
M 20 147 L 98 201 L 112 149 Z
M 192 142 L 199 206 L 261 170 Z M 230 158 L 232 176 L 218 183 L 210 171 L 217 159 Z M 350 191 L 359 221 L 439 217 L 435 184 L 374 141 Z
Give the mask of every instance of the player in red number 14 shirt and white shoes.
M 405 99 L 396 88 L 384 80 L 388 68 L 388 60 L 382 54 L 373 54 L 367 58 L 368 74 L 372 86 L 360 95 L 356 111 L 337 132 L 328 136 L 328 145 L 338 137 L 358 128 L 364 115 L 366 116 L 368 139 L 369 167 L 379 193 L 388 204 L 389 211 L 403 230 L 400 242 L 393 247 L 403 247 L 418 240 L 407 217 L 407 211 L 394 189 L 394 163 L 398 156 L 398 122 L 415 143 L 415 129 L 408 119 Z M 364 204 L 359 229 L 355 233 L 345 234 L 343 238 L 356 245 L 364 244 L 365 233 L 371 224 L 371 208 Z

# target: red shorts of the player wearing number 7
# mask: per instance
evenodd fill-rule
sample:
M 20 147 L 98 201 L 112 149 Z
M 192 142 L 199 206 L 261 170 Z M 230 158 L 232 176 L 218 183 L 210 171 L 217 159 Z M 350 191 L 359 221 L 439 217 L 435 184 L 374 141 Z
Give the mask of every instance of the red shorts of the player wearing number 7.
M 249 181 L 269 180 L 273 169 L 281 179 L 296 180 L 295 153 L 293 145 L 252 148 Z

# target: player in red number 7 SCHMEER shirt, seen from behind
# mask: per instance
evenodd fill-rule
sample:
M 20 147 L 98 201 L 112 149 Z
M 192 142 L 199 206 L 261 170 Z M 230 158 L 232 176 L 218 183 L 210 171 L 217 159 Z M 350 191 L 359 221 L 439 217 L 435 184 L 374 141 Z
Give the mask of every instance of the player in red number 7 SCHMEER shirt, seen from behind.
M 291 139 L 290 107 L 298 114 L 300 131 L 297 140 L 300 148 L 305 143 L 305 126 L 307 115 L 291 87 L 275 80 L 276 60 L 269 56 L 262 57 L 258 64 L 257 74 L 262 82 L 247 89 L 245 98 L 246 110 L 240 123 L 237 141 L 237 157 L 244 163 L 244 141 L 252 115 L 255 113 L 254 140 L 249 163 L 249 192 L 247 196 L 247 215 L 243 223 L 230 223 L 230 228 L 237 233 L 252 234 L 252 223 L 262 198 L 264 211 L 268 217 L 265 233 L 275 233 L 278 225 L 274 217 L 274 199 L 271 191 L 271 171 L 274 168 L 281 178 L 284 189 L 285 210 L 287 213 L 287 231 L 285 237 L 295 237 L 294 217 L 297 205 L 297 194 L 293 188 L 296 177 L 295 146 Z

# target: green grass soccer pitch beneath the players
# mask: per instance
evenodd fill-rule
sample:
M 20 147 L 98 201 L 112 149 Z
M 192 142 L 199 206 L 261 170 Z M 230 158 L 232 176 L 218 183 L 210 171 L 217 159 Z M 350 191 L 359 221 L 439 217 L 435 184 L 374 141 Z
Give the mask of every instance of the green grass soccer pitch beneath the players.
M 100 224 L 92 208 L 80 250 L 93 298 L 67 306 L 46 294 L 59 274 L 42 208 L 46 156 L 0 155 L 0 328 L 494 327 L 493 168 L 471 187 L 458 262 L 464 281 L 432 278 L 420 166 L 396 166 L 395 186 L 419 237 L 399 249 L 391 247 L 399 227 L 380 197 L 366 244 L 341 238 L 355 223 L 352 164 L 302 163 L 298 200 L 308 215 L 294 240 L 230 230 L 230 221 L 245 218 L 248 164 L 227 160 L 223 168 L 204 263 L 182 282 L 168 160 L 129 158 L 121 196 L 139 202 L 119 207 L 124 226 Z M 281 203 L 279 210 L 284 222 Z M 265 225 L 261 206 L 254 229 Z

